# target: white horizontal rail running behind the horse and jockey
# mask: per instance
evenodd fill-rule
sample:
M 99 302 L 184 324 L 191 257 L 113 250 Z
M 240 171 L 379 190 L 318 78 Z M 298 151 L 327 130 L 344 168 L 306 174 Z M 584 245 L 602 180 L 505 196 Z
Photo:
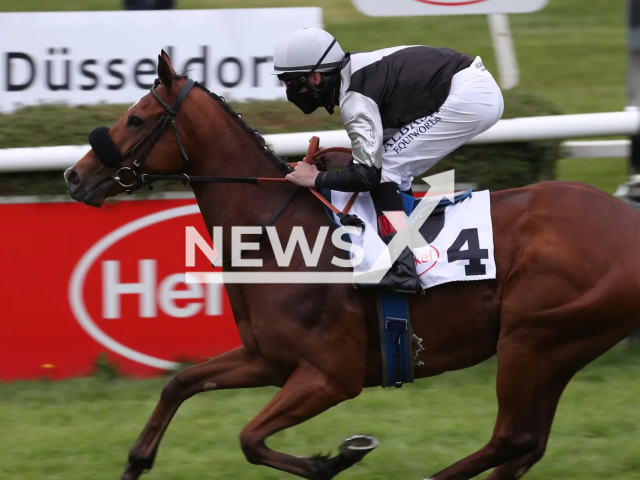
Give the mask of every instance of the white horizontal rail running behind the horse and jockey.
M 512 143 L 567 138 L 632 136 L 638 133 L 640 133 L 640 111 L 628 109 L 624 112 L 501 120 L 493 128 L 469 143 Z M 309 139 L 312 136 L 319 137 L 320 145 L 323 147 L 351 146 L 349 137 L 343 130 L 265 135 L 265 139 L 278 155 L 293 157 L 306 153 Z M 573 145 L 573 148 L 578 147 L 584 150 L 584 142 L 578 146 Z M 603 152 L 603 149 L 609 149 L 609 147 L 613 147 L 613 145 L 601 145 L 600 152 Z M 63 170 L 82 158 L 89 148 L 89 145 L 79 145 L 0 150 L 0 173 Z M 572 148 L 571 145 L 568 148 Z M 618 143 L 615 148 L 617 149 L 616 155 L 603 156 L 617 156 L 621 152 L 627 152 L 629 147 L 628 143 Z

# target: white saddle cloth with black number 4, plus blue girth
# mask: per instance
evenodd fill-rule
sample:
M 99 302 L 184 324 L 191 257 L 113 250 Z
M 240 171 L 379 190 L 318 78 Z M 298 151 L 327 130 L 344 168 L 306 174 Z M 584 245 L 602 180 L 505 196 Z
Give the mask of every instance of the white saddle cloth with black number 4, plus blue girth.
M 324 190 L 322 194 L 339 210 L 351 198 L 350 193 L 329 190 Z M 403 200 L 405 213 L 409 217 L 416 208 L 422 210 L 425 207 L 420 204 L 421 201 L 434 201 L 404 194 Z M 454 202 L 443 199 L 431 209 L 432 213 L 419 229 L 427 245 L 412 249 L 422 288 L 449 282 L 495 279 L 489 192 L 462 192 L 455 196 Z M 326 211 L 332 224 L 339 227 L 338 217 L 329 209 Z M 361 278 L 372 271 L 388 268 L 391 261 L 387 247 L 378 235 L 371 196 L 368 193 L 359 194 L 350 213 L 357 215 L 365 224 L 359 235 L 349 234 L 349 239 L 344 238 L 351 245 L 349 254 L 352 262 L 357 258 L 357 248 L 364 252 L 364 259 L 353 266 L 354 284 L 358 284 Z M 382 386 L 401 387 L 403 383 L 413 382 L 413 369 L 417 364 L 421 340 L 414 337 L 411 331 L 408 296 L 397 292 L 380 292 L 378 317 L 383 362 Z

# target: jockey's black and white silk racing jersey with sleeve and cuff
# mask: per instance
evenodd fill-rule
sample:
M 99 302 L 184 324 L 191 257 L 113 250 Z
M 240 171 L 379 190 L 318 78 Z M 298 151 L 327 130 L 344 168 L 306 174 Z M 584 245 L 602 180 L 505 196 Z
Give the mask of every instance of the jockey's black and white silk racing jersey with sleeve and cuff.
M 320 172 L 316 188 L 375 188 L 381 179 L 385 130 L 397 131 L 437 112 L 453 76 L 472 61 L 455 50 L 427 46 L 348 53 L 340 67 L 339 105 L 353 164 L 341 172 Z

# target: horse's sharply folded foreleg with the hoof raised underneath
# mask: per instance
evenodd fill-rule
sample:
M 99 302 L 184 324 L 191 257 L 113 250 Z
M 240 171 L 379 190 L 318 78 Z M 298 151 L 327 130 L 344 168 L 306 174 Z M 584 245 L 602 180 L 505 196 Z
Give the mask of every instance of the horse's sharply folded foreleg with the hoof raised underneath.
M 341 446 L 340 454 L 332 458 L 294 457 L 271 450 L 265 444 L 270 435 L 315 417 L 357 396 L 362 389 L 361 385 L 350 388 L 337 385 L 309 364 L 300 365 L 282 390 L 240 434 L 247 460 L 312 480 L 328 480 L 360 461 L 377 446 L 377 440 L 364 435 L 351 437 Z

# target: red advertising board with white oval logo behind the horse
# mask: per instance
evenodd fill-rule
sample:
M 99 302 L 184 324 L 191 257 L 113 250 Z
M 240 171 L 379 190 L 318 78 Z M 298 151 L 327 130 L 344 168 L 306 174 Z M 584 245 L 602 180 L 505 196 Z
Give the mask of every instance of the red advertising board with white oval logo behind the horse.
M 155 374 L 239 345 L 221 285 L 187 285 L 193 200 L 0 205 L 0 380 Z M 196 254 L 196 271 L 211 269 Z

